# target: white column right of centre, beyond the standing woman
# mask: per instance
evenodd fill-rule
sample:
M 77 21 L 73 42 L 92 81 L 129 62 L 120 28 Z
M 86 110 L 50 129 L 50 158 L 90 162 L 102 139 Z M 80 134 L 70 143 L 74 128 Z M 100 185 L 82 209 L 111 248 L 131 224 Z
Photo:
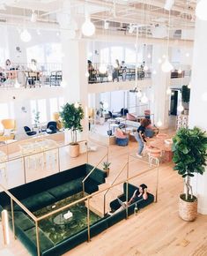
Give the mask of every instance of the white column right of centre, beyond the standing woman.
M 152 56 L 152 107 L 155 125 L 161 122 L 160 129 L 168 127 L 169 95 L 166 94 L 170 86 L 170 72 L 162 72 L 159 59 L 164 61 L 162 56 L 166 55 L 166 47 L 162 45 L 153 46 Z M 153 73 L 156 72 L 156 73 Z

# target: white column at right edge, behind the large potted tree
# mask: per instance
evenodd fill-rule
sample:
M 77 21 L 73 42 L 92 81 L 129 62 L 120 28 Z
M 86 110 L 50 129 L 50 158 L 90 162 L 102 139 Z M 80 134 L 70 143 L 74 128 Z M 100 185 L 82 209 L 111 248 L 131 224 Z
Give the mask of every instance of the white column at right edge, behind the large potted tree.
M 192 88 L 189 104 L 189 127 L 198 126 L 207 130 L 207 21 L 196 20 Z M 207 215 L 207 169 L 203 176 L 193 179 L 194 193 L 198 197 L 198 212 Z

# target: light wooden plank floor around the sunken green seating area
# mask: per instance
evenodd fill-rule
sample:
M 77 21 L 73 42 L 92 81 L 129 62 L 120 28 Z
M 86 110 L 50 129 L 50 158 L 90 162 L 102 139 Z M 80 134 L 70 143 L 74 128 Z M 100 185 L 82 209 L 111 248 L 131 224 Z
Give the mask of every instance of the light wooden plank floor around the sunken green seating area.
M 126 163 L 127 154 L 130 152 L 135 155 L 136 149 L 136 142 L 130 142 L 129 147 L 110 147 L 109 161 L 113 163 L 107 179 L 108 184 Z M 102 155 L 104 150 L 100 150 Z M 93 162 L 99 162 L 98 158 L 94 160 L 92 154 L 90 157 Z M 144 169 L 144 162 L 133 156 L 131 158 L 132 174 Z M 123 172 L 123 175 L 124 173 L 126 172 Z M 132 183 L 147 183 L 149 191 L 154 192 L 155 177 L 155 171 L 149 171 L 137 177 Z M 122 187 L 119 186 L 117 189 L 122 190 Z M 198 215 L 195 222 L 182 221 L 178 216 L 178 196 L 181 191 L 182 180 L 173 170 L 173 164 L 161 163 L 157 203 L 139 211 L 138 215 L 132 215 L 128 220 L 115 224 L 97 237 L 93 237 L 90 243 L 79 245 L 64 256 L 207 256 L 207 215 Z M 0 233 L 0 243 L 1 239 Z M 1 248 L 1 256 L 30 255 L 18 240 L 12 240 L 9 247 Z

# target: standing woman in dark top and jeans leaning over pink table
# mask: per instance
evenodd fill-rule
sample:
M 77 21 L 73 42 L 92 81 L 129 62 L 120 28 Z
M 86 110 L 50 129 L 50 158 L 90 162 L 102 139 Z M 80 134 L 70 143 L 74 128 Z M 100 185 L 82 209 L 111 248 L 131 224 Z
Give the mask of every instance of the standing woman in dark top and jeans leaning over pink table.
M 144 139 L 144 132 L 146 127 L 151 124 L 151 121 L 147 118 L 144 118 L 141 121 L 141 125 L 138 127 L 137 132 L 135 134 L 135 139 L 138 142 L 138 149 L 137 149 L 137 156 L 139 158 L 142 158 L 142 152 L 143 152 L 143 148 L 144 148 L 144 142 L 146 142 L 146 140 Z

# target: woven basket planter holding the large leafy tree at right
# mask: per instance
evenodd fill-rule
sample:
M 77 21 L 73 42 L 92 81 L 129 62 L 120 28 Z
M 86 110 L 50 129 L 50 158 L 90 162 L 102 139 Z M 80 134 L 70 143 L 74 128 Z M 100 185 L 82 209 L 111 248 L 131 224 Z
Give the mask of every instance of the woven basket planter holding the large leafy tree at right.
M 197 199 L 193 202 L 187 202 L 182 200 L 184 194 L 181 194 L 179 197 L 179 215 L 182 220 L 186 222 L 193 222 L 197 216 Z

